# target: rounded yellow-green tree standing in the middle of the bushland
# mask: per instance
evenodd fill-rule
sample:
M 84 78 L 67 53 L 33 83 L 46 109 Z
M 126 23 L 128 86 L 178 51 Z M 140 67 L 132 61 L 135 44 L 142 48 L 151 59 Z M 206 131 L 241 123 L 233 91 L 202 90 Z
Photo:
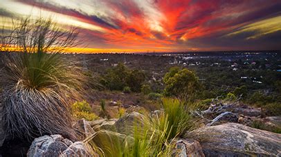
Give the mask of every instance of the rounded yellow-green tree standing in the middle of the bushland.
M 190 70 L 183 69 L 176 72 L 173 68 L 164 76 L 166 96 L 177 96 L 191 101 L 200 89 L 198 77 Z

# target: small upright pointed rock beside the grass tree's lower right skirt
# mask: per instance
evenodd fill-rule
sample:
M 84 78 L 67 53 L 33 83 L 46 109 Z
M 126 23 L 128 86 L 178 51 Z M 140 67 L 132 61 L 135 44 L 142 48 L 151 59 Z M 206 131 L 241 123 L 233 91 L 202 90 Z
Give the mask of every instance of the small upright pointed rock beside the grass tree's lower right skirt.
M 86 120 L 80 119 L 75 125 L 73 126 L 75 132 L 80 136 L 80 138 L 84 139 L 90 136 L 91 134 L 95 133 L 93 128 L 91 127 L 90 123 Z

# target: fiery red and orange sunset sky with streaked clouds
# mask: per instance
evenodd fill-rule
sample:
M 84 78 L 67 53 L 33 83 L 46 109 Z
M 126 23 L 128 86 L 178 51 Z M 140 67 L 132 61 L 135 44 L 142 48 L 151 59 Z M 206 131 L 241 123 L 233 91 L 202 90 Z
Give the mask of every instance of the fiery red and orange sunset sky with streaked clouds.
M 26 16 L 80 28 L 73 52 L 281 50 L 280 0 L 0 0 L 0 25 Z

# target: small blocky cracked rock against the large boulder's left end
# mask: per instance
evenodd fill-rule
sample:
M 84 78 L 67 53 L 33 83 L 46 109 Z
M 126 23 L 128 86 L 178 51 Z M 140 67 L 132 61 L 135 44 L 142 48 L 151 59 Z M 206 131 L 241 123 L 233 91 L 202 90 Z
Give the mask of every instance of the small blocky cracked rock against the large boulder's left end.
M 176 156 L 179 157 L 203 157 L 203 150 L 200 143 L 196 140 L 177 140 Z

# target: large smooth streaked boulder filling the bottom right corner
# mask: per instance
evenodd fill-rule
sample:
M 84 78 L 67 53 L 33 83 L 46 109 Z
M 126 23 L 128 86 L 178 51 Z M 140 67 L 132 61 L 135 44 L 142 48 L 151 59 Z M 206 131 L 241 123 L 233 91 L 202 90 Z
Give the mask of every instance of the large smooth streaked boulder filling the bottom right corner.
M 185 134 L 198 140 L 206 156 L 280 156 L 281 134 L 237 123 L 202 127 Z

